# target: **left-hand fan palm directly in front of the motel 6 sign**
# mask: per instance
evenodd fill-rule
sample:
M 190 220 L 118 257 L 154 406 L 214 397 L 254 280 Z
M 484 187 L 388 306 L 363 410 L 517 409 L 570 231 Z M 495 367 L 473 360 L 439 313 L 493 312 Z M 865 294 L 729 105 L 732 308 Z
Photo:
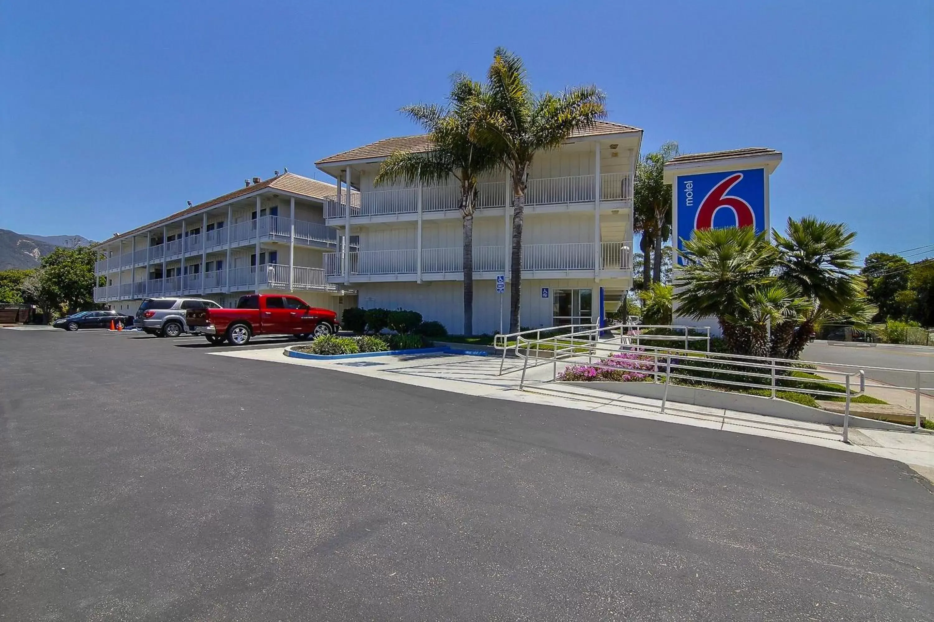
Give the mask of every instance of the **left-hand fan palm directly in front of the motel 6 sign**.
M 688 259 L 679 272 L 674 299 L 679 315 L 714 316 L 730 352 L 748 353 L 749 331 L 738 319 L 743 301 L 775 282 L 777 253 L 765 233 L 752 227 L 695 231 L 684 242 Z

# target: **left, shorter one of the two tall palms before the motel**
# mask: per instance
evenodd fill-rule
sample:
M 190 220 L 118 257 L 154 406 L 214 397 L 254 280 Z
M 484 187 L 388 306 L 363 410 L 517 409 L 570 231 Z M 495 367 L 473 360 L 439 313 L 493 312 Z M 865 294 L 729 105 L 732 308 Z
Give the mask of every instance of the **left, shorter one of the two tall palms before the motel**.
M 460 185 L 460 214 L 463 217 L 464 335 L 474 334 L 474 211 L 481 174 L 495 168 L 499 159 L 487 146 L 474 143 L 471 129 L 474 106 L 482 85 L 466 76 L 455 76 L 449 108 L 433 104 L 405 106 L 403 112 L 415 119 L 432 137 L 432 149 L 421 153 L 397 152 L 385 159 L 376 174 L 376 186 L 402 180 L 426 185 L 444 183 L 451 177 Z

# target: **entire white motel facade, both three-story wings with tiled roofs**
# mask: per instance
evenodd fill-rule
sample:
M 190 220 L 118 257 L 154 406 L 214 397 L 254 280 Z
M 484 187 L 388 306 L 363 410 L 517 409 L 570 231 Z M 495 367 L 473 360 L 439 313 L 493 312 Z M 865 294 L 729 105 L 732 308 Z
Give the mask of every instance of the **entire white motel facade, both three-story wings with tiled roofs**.
M 520 324 L 596 322 L 632 285 L 632 188 L 642 130 L 599 121 L 536 154 L 523 232 Z M 431 147 L 424 135 L 320 159 L 334 184 L 285 173 L 193 205 L 99 245 L 94 299 L 134 311 L 145 297 L 204 296 L 231 305 L 289 292 L 333 309 L 408 309 L 463 328 L 460 191 L 381 186 L 380 163 Z M 474 215 L 474 333 L 508 324 L 511 184 L 481 180 Z M 349 196 L 348 196 L 349 191 Z M 346 243 L 349 242 L 349 243 Z

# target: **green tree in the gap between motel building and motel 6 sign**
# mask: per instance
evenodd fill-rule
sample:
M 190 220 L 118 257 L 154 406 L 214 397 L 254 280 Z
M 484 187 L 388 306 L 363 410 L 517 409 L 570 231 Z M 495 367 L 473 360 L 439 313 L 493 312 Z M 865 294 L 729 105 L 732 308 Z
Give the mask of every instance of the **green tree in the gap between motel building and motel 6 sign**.
M 636 164 L 633 187 L 633 220 L 635 232 L 641 232 L 645 242 L 640 243 L 644 257 L 643 289 L 662 280 L 662 244 L 672 235 L 672 186 L 665 184 L 665 162 L 678 155 L 678 144 L 670 141 L 658 151 L 645 154 Z

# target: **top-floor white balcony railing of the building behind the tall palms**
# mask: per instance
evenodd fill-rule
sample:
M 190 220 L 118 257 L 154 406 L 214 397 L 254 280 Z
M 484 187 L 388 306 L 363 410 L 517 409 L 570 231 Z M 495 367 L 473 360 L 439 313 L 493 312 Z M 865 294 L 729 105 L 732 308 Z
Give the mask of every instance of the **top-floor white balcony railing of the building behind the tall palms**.
M 526 187 L 526 205 L 591 203 L 596 195 L 594 175 L 570 175 L 530 179 Z M 460 209 L 460 187 L 435 186 L 389 188 L 353 195 L 350 216 L 415 214 L 421 193 L 422 212 L 446 212 Z M 325 200 L 327 218 L 345 217 L 345 205 L 336 196 Z M 512 190 L 507 182 L 488 182 L 477 188 L 477 209 L 505 207 L 512 204 Z M 632 178 L 628 173 L 601 174 L 601 200 L 632 199 Z

